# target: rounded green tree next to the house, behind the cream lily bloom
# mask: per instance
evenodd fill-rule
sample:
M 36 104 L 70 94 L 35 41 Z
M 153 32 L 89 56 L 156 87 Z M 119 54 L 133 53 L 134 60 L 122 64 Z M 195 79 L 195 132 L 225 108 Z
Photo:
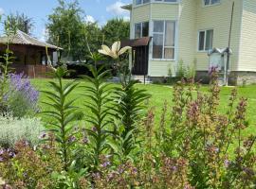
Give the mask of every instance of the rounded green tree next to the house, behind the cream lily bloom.
M 104 43 L 111 45 L 116 41 L 129 39 L 130 22 L 123 19 L 115 18 L 109 20 L 105 26 L 102 27 L 102 34 L 104 35 Z

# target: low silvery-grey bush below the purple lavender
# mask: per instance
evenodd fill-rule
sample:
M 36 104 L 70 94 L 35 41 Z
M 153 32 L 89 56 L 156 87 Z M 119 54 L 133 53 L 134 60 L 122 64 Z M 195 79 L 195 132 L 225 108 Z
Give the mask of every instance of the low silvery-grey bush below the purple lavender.
M 39 135 L 44 130 L 43 123 L 37 118 L 0 115 L 0 146 L 15 146 L 20 140 L 27 140 L 31 146 L 39 144 Z

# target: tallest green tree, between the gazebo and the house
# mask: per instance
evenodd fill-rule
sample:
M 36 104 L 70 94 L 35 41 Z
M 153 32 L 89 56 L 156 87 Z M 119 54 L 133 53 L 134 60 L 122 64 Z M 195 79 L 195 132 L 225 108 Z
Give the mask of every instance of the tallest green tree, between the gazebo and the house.
M 64 57 L 82 59 L 83 11 L 77 0 L 66 3 L 59 0 L 59 6 L 48 15 L 48 41 L 64 48 Z

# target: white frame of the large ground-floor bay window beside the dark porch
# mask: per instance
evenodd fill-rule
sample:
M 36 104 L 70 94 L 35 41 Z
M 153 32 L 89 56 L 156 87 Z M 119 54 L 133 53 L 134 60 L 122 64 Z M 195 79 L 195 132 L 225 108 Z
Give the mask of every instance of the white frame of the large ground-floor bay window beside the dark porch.
M 163 32 L 154 32 L 154 22 L 155 21 L 163 21 L 164 22 L 164 27 L 163 27 Z M 173 22 L 174 23 L 174 26 L 175 26 L 175 33 L 174 33 L 174 46 L 165 46 L 165 26 L 166 26 L 166 22 Z M 153 58 L 153 46 L 154 46 L 154 43 L 153 43 L 153 40 L 152 40 L 152 54 L 151 54 L 151 60 L 171 60 L 171 61 L 174 61 L 176 60 L 176 37 L 177 37 L 177 22 L 175 20 L 153 20 L 153 28 L 152 28 L 152 34 L 154 36 L 154 34 L 162 34 L 163 35 L 163 48 L 162 48 L 162 58 L 161 59 L 156 59 L 156 58 Z M 164 58 L 164 49 L 165 48 L 174 48 L 174 59 L 165 59 Z

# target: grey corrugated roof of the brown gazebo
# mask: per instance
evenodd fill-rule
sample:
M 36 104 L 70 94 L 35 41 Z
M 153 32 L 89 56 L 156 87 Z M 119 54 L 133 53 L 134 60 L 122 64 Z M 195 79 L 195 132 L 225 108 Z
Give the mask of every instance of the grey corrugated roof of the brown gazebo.
M 7 36 L 0 37 L 0 43 L 8 43 L 9 39 Z M 10 36 L 10 43 L 12 44 L 25 44 L 25 45 L 34 45 L 34 46 L 41 46 L 41 47 L 48 47 L 51 49 L 63 49 L 61 47 L 41 42 L 29 35 L 27 33 L 24 33 L 21 30 L 17 30 L 15 34 Z

